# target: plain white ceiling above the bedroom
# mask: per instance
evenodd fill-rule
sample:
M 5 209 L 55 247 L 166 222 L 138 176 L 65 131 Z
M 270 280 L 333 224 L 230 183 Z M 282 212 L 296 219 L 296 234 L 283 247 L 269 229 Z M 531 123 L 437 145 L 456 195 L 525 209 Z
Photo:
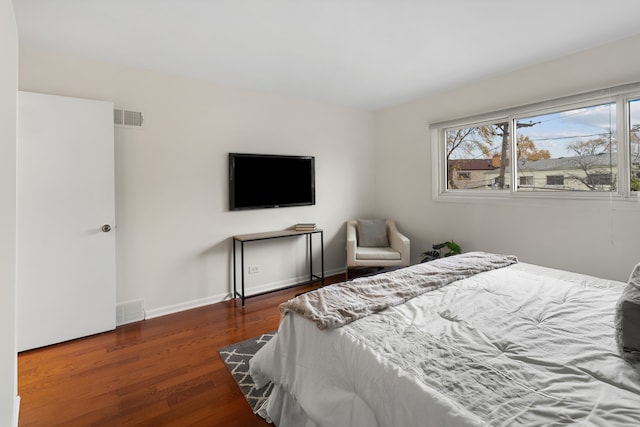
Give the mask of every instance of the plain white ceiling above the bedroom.
M 377 110 L 640 33 L 637 0 L 14 0 L 21 47 Z

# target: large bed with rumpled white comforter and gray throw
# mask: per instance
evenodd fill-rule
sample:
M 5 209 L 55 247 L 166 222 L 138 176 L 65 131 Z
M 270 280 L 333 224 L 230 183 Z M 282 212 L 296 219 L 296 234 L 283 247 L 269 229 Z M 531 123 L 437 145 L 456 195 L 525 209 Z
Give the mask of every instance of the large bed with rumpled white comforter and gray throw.
M 463 254 L 283 304 L 250 362 L 258 387 L 273 384 L 258 413 L 278 426 L 639 426 L 640 371 L 616 335 L 627 284 L 515 257 L 464 268 L 495 256 L 505 257 Z

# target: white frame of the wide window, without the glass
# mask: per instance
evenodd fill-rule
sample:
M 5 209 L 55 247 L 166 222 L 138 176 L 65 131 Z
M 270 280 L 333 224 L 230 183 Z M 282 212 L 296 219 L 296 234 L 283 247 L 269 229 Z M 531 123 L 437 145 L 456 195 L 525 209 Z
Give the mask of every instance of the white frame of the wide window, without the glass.
M 550 101 L 510 108 L 508 110 L 482 114 L 457 120 L 433 123 L 430 125 L 432 146 L 432 198 L 435 201 L 469 201 L 469 200 L 509 200 L 509 199 L 577 199 L 577 200 L 640 200 L 640 192 L 632 192 L 631 181 L 631 153 L 629 144 L 629 111 L 628 103 L 640 98 L 640 83 L 616 86 L 609 89 L 558 98 Z M 517 158 L 516 153 L 516 121 L 522 118 L 550 114 L 558 111 L 577 109 L 598 104 L 616 104 L 616 133 L 617 133 L 617 190 L 616 191 L 567 191 L 557 193 L 553 191 L 526 192 L 517 191 L 518 176 L 517 162 L 509 162 L 508 188 L 504 190 L 467 190 L 447 188 L 447 159 L 446 159 L 446 131 L 482 126 L 493 123 L 508 122 L 511 159 Z M 507 184 L 505 182 L 505 184 Z M 506 185 L 505 185 L 506 187 Z

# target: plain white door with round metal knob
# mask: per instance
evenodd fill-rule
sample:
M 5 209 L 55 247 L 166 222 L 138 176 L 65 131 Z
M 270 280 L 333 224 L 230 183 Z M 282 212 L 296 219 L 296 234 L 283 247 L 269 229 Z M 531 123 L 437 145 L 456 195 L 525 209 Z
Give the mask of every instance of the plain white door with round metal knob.
M 18 351 L 115 328 L 114 187 L 113 104 L 18 93 Z

